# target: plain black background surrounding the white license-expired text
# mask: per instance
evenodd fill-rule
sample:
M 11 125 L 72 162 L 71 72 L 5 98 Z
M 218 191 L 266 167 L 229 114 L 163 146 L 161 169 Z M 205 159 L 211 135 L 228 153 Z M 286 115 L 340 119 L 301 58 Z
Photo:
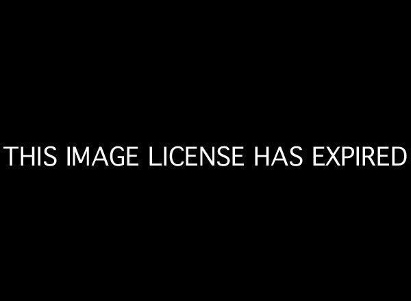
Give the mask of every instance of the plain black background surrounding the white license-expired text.
M 3 164 L 8 283 L 211 296 L 401 286 L 409 163 L 313 168 L 310 149 L 409 151 L 406 20 L 369 8 L 170 9 L 10 16 L 1 146 L 244 145 L 247 167 Z M 252 167 L 253 146 L 293 145 L 306 150 L 301 168 Z

